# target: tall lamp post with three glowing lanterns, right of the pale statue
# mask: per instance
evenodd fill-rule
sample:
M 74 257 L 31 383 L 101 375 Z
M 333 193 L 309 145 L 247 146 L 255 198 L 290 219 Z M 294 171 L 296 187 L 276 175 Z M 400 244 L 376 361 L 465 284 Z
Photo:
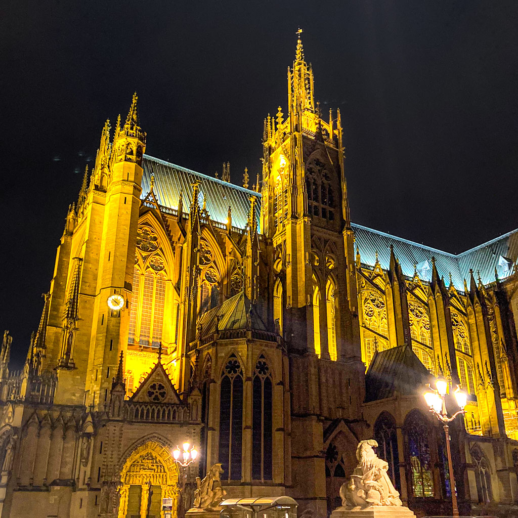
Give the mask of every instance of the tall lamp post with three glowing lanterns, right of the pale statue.
M 448 468 L 450 471 L 453 516 L 458 516 L 459 514 L 457 507 L 457 494 L 455 491 L 455 476 L 453 474 L 452 455 L 450 450 L 450 427 L 448 423 L 451 423 L 457 417 L 457 415 L 465 413 L 464 407 L 466 406 L 468 395 L 457 385 L 453 395 L 455 396 L 457 405 L 461 408 L 461 410 L 455 412 L 451 417 L 448 417 L 448 412 L 446 410 L 446 404 L 444 401 L 444 396 L 448 390 L 448 382 L 441 376 L 437 378 L 435 386 L 437 389 L 432 389 L 430 385 L 428 385 L 428 390 L 423 394 L 423 396 L 425 398 L 426 404 L 428 407 L 430 407 L 430 412 L 433 413 L 436 418 L 444 424 L 443 428 L 444 435 L 446 436 L 446 450 L 448 452 Z

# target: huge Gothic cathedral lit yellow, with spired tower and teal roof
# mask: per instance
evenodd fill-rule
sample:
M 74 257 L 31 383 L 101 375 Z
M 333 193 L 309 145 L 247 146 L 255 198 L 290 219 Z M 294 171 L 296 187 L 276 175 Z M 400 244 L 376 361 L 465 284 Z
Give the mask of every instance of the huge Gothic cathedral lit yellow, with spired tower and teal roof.
M 287 94 L 242 186 L 146 154 L 136 95 L 105 123 L 21 371 L 4 334 L 2 518 L 180 518 L 215 463 L 227 497 L 325 518 L 369 438 L 404 505 L 450 514 L 439 375 L 468 393 L 461 514 L 518 501 L 518 230 L 454 255 L 353 223 L 300 35 Z

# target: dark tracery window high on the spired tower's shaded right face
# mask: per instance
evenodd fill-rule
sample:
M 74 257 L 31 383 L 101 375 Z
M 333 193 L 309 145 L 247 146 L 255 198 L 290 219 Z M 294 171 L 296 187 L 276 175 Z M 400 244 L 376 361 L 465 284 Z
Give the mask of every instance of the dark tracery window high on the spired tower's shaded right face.
M 306 169 L 308 210 L 313 216 L 328 221 L 335 220 L 335 195 L 326 165 L 319 159 L 312 160 Z

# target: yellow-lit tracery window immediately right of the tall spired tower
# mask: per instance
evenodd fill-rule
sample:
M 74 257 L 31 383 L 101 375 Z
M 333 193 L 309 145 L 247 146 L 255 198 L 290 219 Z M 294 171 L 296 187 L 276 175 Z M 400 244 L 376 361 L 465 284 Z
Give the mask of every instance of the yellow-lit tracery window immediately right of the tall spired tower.
M 362 294 L 363 308 L 363 361 L 368 366 L 376 349 L 389 346 L 389 328 L 384 298 L 373 291 Z

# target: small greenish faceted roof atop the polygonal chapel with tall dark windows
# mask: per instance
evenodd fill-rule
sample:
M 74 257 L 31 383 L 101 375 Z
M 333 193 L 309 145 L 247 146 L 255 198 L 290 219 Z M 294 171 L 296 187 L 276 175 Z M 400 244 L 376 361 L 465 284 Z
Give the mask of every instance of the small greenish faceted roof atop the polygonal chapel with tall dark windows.
M 267 330 L 250 299 L 242 291 L 202 315 L 199 320 L 202 336 L 215 333 L 217 323 L 220 332 L 227 329 Z

